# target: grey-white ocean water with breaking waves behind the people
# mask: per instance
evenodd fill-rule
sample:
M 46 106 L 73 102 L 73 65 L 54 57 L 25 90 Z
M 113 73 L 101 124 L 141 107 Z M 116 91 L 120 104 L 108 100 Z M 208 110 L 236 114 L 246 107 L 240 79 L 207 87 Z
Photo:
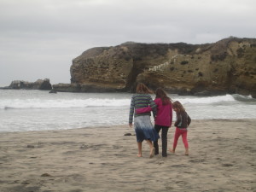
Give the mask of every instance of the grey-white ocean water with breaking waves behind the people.
M 0 90 L 0 132 L 128 125 L 131 96 L 130 93 Z M 256 99 L 251 96 L 168 96 L 182 102 L 192 120 L 256 118 Z

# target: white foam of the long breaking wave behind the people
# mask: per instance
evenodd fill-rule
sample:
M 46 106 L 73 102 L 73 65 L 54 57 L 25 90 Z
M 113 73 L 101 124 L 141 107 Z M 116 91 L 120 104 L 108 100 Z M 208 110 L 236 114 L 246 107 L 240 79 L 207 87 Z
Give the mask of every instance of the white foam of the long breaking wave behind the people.
M 175 100 L 175 99 L 174 99 Z M 226 95 L 208 97 L 180 97 L 177 99 L 183 104 L 211 104 L 221 102 L 236 102 L 254 100 L 251 96 Z M 130 99 L 2 99 L 0 109 L 10 108 L 88 108 L 88 107 L 121 107 L 129 106 Z

